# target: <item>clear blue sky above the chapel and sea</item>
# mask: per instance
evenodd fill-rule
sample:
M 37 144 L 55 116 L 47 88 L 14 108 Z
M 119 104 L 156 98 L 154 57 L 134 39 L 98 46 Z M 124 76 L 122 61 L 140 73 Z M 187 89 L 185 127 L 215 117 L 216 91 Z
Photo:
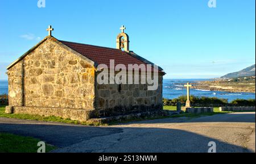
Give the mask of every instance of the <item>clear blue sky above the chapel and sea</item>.
M 214 78 L 255 64 L 255 0 L 0 1 L 0 79 L 6 66 L 47 36 L 115 48 L 122 24 L 130 50 L 164 78 Z

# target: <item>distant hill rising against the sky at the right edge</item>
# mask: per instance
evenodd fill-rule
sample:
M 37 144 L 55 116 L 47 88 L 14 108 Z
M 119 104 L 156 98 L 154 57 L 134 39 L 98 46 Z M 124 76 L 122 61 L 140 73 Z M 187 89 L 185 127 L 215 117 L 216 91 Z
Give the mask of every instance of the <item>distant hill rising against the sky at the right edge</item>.
M 220 78 L 237 78 L 237 77 L 247 77 L 252 75 L 255 75 L 255 64 L 247 67 L 246 69 L 240 70 L 238 72 L 226 74 Z

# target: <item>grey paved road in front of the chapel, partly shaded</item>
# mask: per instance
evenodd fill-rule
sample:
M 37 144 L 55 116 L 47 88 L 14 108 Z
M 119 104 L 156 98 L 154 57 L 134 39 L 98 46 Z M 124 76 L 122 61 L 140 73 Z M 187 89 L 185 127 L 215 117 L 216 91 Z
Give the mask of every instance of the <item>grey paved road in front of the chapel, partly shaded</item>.
M 255 112 L 185 117 L 86 127 L 0 117 L 0 132 L 33 136 L 54 152 L 255 152 Z

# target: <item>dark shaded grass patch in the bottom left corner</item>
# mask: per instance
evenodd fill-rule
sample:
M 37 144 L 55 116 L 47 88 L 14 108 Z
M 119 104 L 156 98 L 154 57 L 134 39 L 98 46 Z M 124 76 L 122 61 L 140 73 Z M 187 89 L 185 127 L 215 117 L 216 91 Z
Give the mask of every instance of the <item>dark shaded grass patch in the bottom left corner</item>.
M 39 141 L 32 137 L 0 133 L 0 153 L 37 153 Z M 54 149 L 56 149 L 55 146 L 46 144 L 46 152 Z

